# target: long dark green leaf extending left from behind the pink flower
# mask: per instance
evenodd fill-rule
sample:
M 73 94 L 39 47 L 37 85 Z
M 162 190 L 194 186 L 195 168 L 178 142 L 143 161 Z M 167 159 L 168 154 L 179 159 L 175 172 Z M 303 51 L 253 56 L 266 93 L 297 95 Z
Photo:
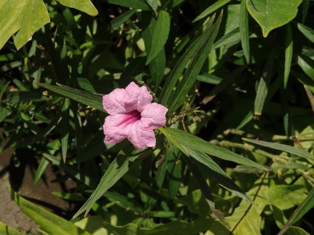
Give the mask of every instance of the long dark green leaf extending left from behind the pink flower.
M 58 84 L 58 86 L 52 86 L 43 83 L 37 83 L 39 86 L 46 88 L 54 93 L 61 94 L 67 98 L 78 101 L 82 104 L 88 105 L 92 108 L 105 112 L 103 107 L 103 99 L 101 95 L 92 94 L 89 92 L 81 91 L 75 88 Z

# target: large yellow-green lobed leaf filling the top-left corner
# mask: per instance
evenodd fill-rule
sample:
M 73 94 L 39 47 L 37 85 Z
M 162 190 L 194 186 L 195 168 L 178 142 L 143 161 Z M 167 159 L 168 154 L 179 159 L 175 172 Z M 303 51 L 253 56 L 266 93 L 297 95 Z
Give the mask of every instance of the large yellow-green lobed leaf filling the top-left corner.
M 43 0 L 2 0 L 0 22 L 0 49 L 17 31 L 14 44 L 20 49 L 50 18 Z

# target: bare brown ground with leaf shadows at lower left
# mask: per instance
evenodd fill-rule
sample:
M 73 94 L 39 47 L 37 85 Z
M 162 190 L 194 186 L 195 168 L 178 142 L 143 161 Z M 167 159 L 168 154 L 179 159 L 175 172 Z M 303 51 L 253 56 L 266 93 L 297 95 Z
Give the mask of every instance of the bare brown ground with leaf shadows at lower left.
M 0 153 L 0 221 L 6 225 L 36 233 L 36 224 L 28 218 L 11 199 L 8 183 L 20 195 L 33 203 L 42 206 L 65 218 L 71 218 L 75 213 L 75 204 L 62 200 L 51 194 L 52 191 L 68 191 L 76 185 L 73 181 L 52 183 L 56 178 L 53 166 L 48 165 L 44 177 L 33 185 L 34 175 L 38 167 L 38 158 L 30 151 L 16 153 L 20 159 L 20 166 L 13 164 L 12 149 Z

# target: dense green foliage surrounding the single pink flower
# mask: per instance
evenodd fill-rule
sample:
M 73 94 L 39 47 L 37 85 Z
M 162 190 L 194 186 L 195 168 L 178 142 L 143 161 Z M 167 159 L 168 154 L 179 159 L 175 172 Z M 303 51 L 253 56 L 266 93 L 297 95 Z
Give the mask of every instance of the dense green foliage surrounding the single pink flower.
M 41 156 L 34 184 L 55 165 L 80 206 L 12 191 L 40 231 L 314 233 L 313 2 L 21 2 L 0 1 L 1 150 Z M 131 81 L 169 109 L 144 151 L 104 143 L 102 95 Z

